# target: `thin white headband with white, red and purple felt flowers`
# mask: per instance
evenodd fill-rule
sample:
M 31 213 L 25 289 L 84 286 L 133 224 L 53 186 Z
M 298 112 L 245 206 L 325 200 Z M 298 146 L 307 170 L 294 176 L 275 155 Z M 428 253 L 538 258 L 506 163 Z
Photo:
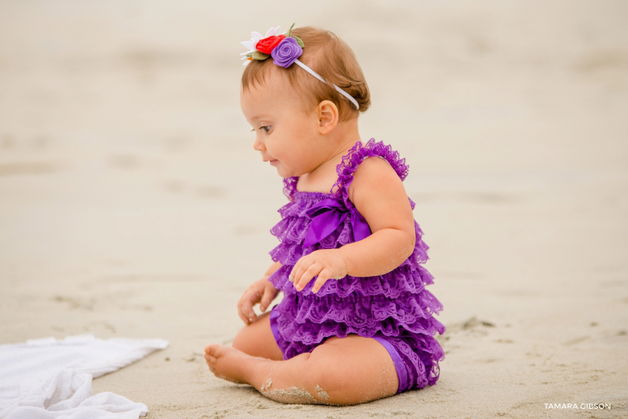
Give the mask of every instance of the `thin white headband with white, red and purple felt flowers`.
M 288 31 L 287 36 L 285 36 L 285 32 L 279 33 L 279 27 L 280 26 L 269 29 L 266 32 L 266 38 L 262 38 L 259 32 L 251 32 L 251 40 L 242 41 L 242 45 L 248 48 L 247 52 L 240 54 L 244 55 L 242 59 L 246 60 L 244 61 L 244 66 L 251 60 L 264 61 L 272 57 L 273 62 L 278 66 L 288 68 L 292 66 L 292 63 L 296 63 L 297 66 L 303 68 L 324 84 L 327 84 L 318 73 L 299 61 L 298 58 L 303 54 L 305 45 L 303 45 L 303 41 L 296 36 L 290 36 L 294 23 L 290 26 L 290 31 Z M 338 93 L 341 93 L 341 95 L 349 99 L 356 109 L 360 109 L 360 105 L 358 105 L 357 100 L 355 100 L 353 96 L 343 91 L 343 89 L 336 86 L 336 84 L 332 84 L 331 86 L 334 86 L 334 89 L 336 89 Z

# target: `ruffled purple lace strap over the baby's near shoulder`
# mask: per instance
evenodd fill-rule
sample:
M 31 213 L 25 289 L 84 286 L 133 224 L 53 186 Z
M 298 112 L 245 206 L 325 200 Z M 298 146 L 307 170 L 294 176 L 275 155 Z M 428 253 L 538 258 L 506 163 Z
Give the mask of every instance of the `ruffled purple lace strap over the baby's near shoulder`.
M 408 176 L 408 165 L 405 164 L 405 158 L 401 158 L 398 151 L 392 150 L 391 146 L 385 145 L 381 141 L 375 142 L 374 138 L 368 140 L 366 144 L 357 142 L 350 148 L 349 153 L 343 157 L 341 164 L 336 166 L 338 180 L 331 188 L 331 192 L 334 195 L 338 198 L 342 197 L 347 208 L 352 208 L 353 206 L 352 202 L 349 201 L 349 186 L 353 182 L 353 174 L 360 163 L 369 157 L 380 157 L 389 162 L 402 181 Z M 412 205 L 412 208 L 414 208 L 414 205 Z

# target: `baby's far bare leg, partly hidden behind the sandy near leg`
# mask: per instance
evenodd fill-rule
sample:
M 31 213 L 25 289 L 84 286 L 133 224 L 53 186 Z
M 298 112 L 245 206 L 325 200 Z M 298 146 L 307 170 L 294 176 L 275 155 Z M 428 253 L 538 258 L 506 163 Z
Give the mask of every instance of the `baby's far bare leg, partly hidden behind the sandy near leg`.
M 255 323 L 241 328 L 233 340 L 235 349 L 251 356 L 260 356 L 272 360 L 283 360 L 283 353 L 270 328 L 270 312 L 257 317 Z

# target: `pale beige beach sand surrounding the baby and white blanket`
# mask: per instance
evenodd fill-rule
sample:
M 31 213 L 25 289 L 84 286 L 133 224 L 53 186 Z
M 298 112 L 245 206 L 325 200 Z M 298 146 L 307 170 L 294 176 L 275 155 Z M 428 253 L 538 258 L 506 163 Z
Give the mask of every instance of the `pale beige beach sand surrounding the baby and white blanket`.
M 214 3 L 0 2 L 0 343 L 169 340 L 94 381 L 148 418 L 627 417 L 627 3 Z M 202 358 L 285 203 L 239 41 L 292 22 L 352 45 L 361 135 L 410 165 L 447 326 L 431 388 L 286 405 Z

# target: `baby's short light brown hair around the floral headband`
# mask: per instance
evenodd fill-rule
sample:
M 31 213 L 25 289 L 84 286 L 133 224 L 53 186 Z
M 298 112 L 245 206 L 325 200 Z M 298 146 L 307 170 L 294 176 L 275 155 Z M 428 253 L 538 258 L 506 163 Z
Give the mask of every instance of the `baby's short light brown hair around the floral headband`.
M 280 71 L 285 74 L 290 86 L 304 98 L 306 109 L 312 109 L 323 100 L 331 100 L 338 107 L 338 119 L 347 121 L 371 106 L 371 94 L 364 73 L 347 43 L 334 33 L 313 26 L 294 28 L 291 36 L 301 38 L 305 45 L 299 61 L 321 75 L 327 84 L 299 68 L 296 63 L 281 68 L 272 59 L 252 60 L 242 74 L 242 88 L 245 91 L 252 84 L 264 84 L 269 71 Z M 334 89 L 334 84 L 357 100 L 359 110 Z

